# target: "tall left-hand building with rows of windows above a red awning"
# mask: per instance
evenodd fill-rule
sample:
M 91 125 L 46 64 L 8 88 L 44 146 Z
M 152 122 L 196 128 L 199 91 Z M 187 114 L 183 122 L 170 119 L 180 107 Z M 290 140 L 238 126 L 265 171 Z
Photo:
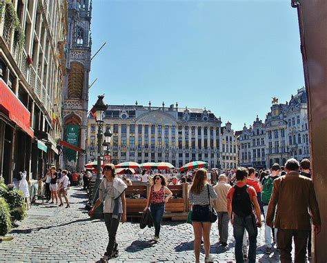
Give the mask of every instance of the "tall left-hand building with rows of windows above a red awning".
M 68 32 L 63 0 L 1 1 L 0 175 L 38 179 L 59 166 Z

